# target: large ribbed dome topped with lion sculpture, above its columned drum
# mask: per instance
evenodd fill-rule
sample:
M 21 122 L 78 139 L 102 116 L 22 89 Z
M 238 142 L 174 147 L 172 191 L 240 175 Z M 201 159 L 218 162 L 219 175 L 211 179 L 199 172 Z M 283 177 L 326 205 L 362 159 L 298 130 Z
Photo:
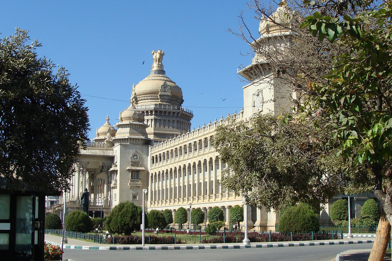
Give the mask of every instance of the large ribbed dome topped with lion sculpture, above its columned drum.
M 150 75 L 132 88 L 132 102 L 135 105 L 166 104 L 181 106 L 184 102 L 181 88 L 170 80 L 163 70 L 162 50 L 153 51 L 153 66 Z

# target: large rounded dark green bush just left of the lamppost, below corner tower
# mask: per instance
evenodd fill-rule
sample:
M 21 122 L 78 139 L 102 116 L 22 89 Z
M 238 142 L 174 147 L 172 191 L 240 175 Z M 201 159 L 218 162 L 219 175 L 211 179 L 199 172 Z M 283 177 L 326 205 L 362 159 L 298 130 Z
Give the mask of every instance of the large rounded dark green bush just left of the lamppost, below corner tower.
M 130 201 L 116 205 L 105 222 L 105 226 L 113 233 L 130 235 L 140 229 L 142 211 Z

